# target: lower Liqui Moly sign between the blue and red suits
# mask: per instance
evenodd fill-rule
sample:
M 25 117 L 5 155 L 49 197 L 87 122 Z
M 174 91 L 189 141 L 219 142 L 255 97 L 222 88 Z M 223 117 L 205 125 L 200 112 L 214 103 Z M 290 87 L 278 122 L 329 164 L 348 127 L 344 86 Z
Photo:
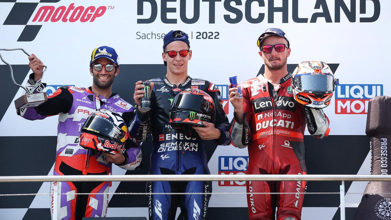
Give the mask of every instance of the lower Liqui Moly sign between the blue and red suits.
M 219 174 L 245 175 L 248 156 L 220 156 Z M 246 181 L 219 181 L 219 186 L 246 186 Z

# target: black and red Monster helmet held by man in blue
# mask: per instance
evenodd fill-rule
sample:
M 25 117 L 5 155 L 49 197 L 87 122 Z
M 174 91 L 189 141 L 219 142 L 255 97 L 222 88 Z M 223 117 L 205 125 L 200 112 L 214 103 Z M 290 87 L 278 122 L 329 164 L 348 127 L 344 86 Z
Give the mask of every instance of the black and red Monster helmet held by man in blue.
M 192 135 L 191 127 L 205 127 L 202 122 L 214 123 L 215 104 L 203 90 L 187 88 L 175 96 L 170 109 L 170 125 L 185 135 Z

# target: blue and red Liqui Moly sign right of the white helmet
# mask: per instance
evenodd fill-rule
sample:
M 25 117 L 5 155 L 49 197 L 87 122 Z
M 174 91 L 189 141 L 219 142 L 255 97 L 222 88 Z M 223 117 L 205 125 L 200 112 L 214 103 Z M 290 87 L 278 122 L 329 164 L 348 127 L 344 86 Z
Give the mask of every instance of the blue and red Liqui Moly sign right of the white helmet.
M 383 95 L 381 84 L 341 84 L 335 87 L 335 114 L 367 114 L 369 99 Z

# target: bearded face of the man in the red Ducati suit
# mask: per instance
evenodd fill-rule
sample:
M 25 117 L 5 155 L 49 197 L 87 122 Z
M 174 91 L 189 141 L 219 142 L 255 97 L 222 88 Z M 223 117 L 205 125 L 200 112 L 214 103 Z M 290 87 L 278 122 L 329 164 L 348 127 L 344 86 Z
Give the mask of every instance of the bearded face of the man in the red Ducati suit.
M 262 45 L 276 45 L 279 43 L 283 43 L 288 45 L 288 41 L 280 36 L 269 36 L 262 41 Z M 259 55 L 265 62 L 265 67 L 269 70 L 280 70 L 287 65 L 287 58 L 291 54 L 291 48 L 285 48 L 282 52 L 277 52 L 276 49 L 272 49 L 270 53 L 264 53 L 262 51 L 259 52 Z

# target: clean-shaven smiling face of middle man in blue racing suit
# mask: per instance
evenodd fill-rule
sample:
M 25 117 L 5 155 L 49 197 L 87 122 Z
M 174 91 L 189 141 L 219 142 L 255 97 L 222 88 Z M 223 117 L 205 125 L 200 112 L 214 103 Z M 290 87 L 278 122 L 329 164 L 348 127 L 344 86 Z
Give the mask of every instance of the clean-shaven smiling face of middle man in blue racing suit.
M 173 41 L 169 43 L 165 47 L 165 52 L 174 50 L 174 51 L 180 51 L 180 50 L 188 50 L 189 46 L 187 43 L 183 41 Z M 187 56 L 182 57 L 179 55 L 179 52 L 176 54 L 176 57 L 170 58 L 168 54 L 162 53 L 161 56 L 163 57 L 163 60 L 167 62 L 167 74 L 175 74 L 175 75 L 187 75 L 187 63 L 192 58 L 192 51 L 190 50 L 187 54 Z

